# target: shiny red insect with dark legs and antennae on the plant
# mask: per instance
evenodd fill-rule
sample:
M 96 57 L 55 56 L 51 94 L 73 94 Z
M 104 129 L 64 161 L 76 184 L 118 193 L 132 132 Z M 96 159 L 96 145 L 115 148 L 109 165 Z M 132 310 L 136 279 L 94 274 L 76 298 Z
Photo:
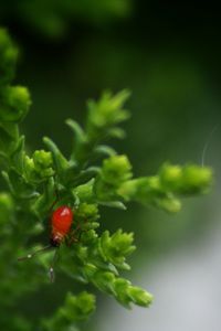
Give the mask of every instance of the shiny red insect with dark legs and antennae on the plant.
M 74 221 L 74 214 L 73 211 L 66 206 L 60 206 L 57 207 L 51 216 L 51 237 L 50 237 L 50 244 L 41 249 L 35 250 L 32 254 L 29 254 L 27 256 L 18 258 L 18 260 L 24 260 L 33 257 L 35 254 L 53 248 L 59 247 L 61 243 L 67 237 L 69 234 L 71 234 L 71 227 Z M 72 232 L 72 237 L 74 238 L 74 233 L 78 229 L 78 227 Z M 71 238 L 72 239 L 72 238 Z M 53 269 L 53 263 L 55 260 L 55 255 L 52 260 L 52 266 L 50 267 L 50 279 L 51 281 L 54 280 L 54 269 Z

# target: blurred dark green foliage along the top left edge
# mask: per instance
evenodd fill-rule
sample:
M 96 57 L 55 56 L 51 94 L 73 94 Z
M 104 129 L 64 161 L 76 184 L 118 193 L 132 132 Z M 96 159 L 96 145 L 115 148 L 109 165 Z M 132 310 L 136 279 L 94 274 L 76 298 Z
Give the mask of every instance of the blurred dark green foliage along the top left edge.
M 73 21 L 106 25 L 127 17 L 130 0 L 23 0 L 1 1 L 0 18 L 15 18 L 40 34 L 60 38 Z

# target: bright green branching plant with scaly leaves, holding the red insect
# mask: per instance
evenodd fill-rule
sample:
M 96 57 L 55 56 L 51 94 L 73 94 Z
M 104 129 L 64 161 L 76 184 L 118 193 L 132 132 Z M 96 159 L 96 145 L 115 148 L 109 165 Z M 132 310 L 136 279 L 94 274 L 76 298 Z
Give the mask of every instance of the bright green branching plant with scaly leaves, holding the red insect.
M 24 264 L 19 264 L 17 258 L 33 249 L 28 243 L 45 231 L 52 205 L 73 207 L 73 226 L 81 228 L 76 243 L 60 247 L 62 271 L 85 286 L 92 284 L 127 308 L 131 303 L 149 306 L 152 296 L 119 276 L 120 270 L 129 270 L 126 257 L 135 250 L 133 234 L 122 229 L 114 234 L 99 232 L 99 218 L 105 217 L 99 214 L 99 206 L 126 210 L 126 203 L 137 201 L 178 212 L 182 195 L 208 191 L 211 170 L 165 163 L 156 175 L 134 178 L 128 158 L 103 145 L 109 138 L 124 137 L 118 125 L 129 117 L 124 108 L 129 96 L 127 90 L 116 95 L 106 92 L 97 102 L 88 102 L 84 128 L 72 119 L 66 121 L 73 132 L 69 158 L 46 137 L 43 139 L 46 150 L 28 154 L 19 124 L 28 114 L 31 99 L 25 87 L 11 85 L 17 54 L 8 33 L 1 29 L 0 162 L 6 185 L 0 193 L 2 329 L 33 330 L 31 321 L 21 314 L 13 321 L 3 317 L 21 297 L 49 281 L 51 252 Z M 64 306 L 51 318 L 42 318 L 38 327 L 75 330 L 73 323 L 87 319 L 94 310 L 93 295 L 69 292 Z

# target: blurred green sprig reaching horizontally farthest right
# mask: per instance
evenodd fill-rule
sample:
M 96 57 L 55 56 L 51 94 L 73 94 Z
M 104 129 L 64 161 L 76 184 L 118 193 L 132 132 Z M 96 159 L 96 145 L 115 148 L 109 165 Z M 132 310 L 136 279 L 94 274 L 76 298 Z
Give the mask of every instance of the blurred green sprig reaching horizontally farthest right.
M 176 213 L 181 207 L 180 196 L 207 193 L 211 181 L 212 172 L 209 168 L 165 163 L 157 175 L 125 181 L 117 193 L 126 201 L 135 200 Z

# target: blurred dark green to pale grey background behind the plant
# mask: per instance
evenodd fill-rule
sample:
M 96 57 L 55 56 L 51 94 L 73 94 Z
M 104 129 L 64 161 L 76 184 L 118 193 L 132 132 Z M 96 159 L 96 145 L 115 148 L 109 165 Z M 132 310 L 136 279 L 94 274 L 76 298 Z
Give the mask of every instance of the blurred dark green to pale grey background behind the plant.
M 22 126 L 30 150 L 50 136 L 67 152 L 64 120 L 83 122 L 86 99 L 107 88 L 131 90 L 127 138 L 113 145 L 128 154 L 136 175 L 154 174 L 167 160 L 201 163 L 208 143 L 204 162 L 215 172 L 210 195 L 185 201 L 176 216 L 137 204 L 103 212 L 102 227 L 135 232 L 130 279 L 155 302 L 128 312 L 99 296 L 86 330 L 220 330 L 219 10 L 145 0 L 2 0 L 0 23 L 20 47 L 15 83 L 32 94 Z M 18 310 L 32 320 L 50 314 L 70 288 L 60 275 Z

